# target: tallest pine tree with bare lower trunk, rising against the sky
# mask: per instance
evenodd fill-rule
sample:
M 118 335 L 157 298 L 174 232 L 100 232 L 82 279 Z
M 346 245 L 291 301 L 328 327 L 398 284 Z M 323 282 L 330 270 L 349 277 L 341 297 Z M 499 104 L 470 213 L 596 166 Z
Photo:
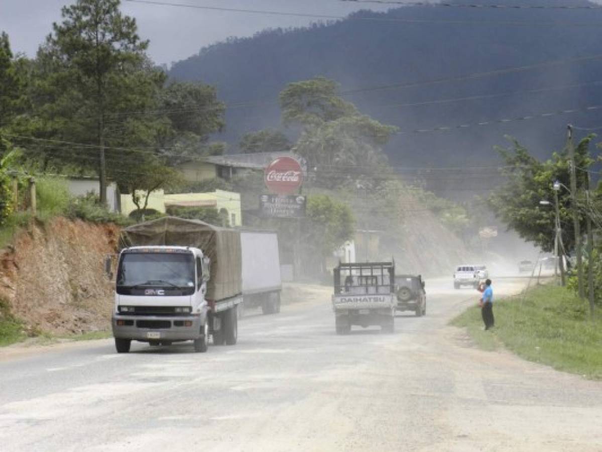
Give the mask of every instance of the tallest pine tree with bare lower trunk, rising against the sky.
M 102 203 L 107 202 L 107 131 L 127 119 L 114 108 L 132 98 L 132 110 L 147 107 L 151 96 L 136 94 L 148 94 L 140 88 L 152 91 L 160 82 L 152 70 L 144 70 L 148 42 L 119 6 L 120 0 L 78 0 L 63 7 L 63 22 L 54 23 L 42 48 L 54 69 L 60 69 L 52 73 L 54 88 L 62 91 L 54 92 L 54 108 L 72 123 L 79 141 L 90 145 L 87 150 L 96 150 Z M 69 114 L 68 105 L 79 108 Z

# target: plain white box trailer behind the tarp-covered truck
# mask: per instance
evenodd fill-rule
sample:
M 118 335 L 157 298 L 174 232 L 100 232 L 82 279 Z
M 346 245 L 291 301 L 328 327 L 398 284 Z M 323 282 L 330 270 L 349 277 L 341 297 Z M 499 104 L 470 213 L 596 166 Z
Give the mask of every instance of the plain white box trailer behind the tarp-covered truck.
M 264 314 L 280 312 L 282 277 L 278 234 L 272 231 L 240 231 L 243 261 L 243 305 L 261 306 Z

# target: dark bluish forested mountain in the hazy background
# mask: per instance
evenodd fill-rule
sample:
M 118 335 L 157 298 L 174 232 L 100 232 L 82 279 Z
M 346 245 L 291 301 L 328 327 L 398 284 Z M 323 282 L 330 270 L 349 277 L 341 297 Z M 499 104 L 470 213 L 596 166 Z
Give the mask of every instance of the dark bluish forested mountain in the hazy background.
M 506 146 L 504 134 L 544 157 L 563 146 L 566 123 L 602 126 L 602 110 L 585 110 L 602 104 L 602 9 L 551 8 L 592 5 L 574 0 L 495 4 L 547 8 L 361 11 L 334 23 L 230 39 L 174 64 L 170 76 L 217 86 L 228 106 L 223 137 L 231 149 L 246 132 L 281 128 L 279 91 L 317 75 L 340 82 L 362 113 L 408 132 L 386 148 L 396 166 L 493 164 L 492 146 Z M 521 66 L 527 67 L 468 76 Z M 570 109 L 580 111 L 478 125 Z M 452 130 L 415 131 L 441 126 Z

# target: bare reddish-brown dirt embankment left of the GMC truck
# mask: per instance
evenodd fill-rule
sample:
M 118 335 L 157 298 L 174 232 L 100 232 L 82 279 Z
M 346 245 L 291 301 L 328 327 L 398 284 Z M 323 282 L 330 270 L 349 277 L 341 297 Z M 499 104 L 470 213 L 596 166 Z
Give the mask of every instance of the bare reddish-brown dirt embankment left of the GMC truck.
M 103 261 L 118 238 L 117 226 L 64 218 L 31 226 L 0 251 L 0 299 L 31 333 L 106 329 L 113 292 Z

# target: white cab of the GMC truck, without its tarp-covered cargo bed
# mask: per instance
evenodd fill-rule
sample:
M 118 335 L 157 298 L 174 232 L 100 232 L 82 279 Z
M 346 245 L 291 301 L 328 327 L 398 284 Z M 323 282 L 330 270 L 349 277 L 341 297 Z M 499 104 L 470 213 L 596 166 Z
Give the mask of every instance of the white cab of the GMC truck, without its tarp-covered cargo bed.
M 111 321 L 117 351 L 128 352 L 132 340 L 151 345 L 193 341 L 195 351 L 206 351 L 209 274 L 209 259 L 197 248 L 123 249 Z

